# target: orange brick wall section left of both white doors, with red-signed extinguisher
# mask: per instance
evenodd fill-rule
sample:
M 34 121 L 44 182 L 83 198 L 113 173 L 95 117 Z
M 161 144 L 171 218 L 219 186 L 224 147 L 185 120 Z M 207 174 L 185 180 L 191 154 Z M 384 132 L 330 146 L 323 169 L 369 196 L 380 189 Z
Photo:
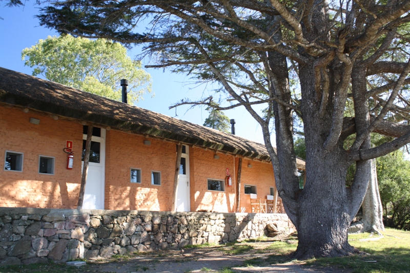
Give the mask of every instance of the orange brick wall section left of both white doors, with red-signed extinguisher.
M 40 123 L 30 123 L 31 117 Z M 80 123 L 0 106 L 0 206 L 75 208 L 82 139 Z M 66 169 L 66 140 L 73 141 L 73 170 Z M 23 172 L 4 170 L 6 151 L 24 153 Z M 54 175 L 38 173 L 40 155 L 55 157 Z

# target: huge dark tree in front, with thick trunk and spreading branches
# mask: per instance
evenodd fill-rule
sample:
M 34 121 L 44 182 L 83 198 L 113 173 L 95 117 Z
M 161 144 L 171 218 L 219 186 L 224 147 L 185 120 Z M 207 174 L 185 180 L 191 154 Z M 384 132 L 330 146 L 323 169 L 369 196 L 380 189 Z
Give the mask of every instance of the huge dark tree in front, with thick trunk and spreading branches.
M 371 174 L 370 159 L 410 141 L 405 120 L 410 1 L 120 0 L 53 2 L 40 24 L 61 33 L 145 44 L 156 63 L 218 82 L 225 103 L 261 125 L 275 184 L 295 224 L 296 258 L 354 252 L 347 227 Z M 136 26 L 147 24 L 146 33 Z M 347 100 L 353 102 L 345 117 Z M 184 99 L 180 104 L 217 101 Z M 263 106 L 264 111 L 259 111 Z M 301 120 L 301 128 L 294 125 Z M 276 150 L 271 142 L 274 125 Z M 299 188 L 294 133 L 303 131 L 306 182 Z M 393 137 L 371 147 L 370 134 Z M 344 145 L 351 137 L 351 144 Z M 347 168 L 356 165 L 350 186 Z

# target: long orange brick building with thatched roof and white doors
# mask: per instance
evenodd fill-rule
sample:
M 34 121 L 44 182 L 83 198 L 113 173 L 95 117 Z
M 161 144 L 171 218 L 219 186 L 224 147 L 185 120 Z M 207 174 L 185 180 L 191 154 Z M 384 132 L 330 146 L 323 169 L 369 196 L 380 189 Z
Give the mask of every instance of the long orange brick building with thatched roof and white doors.
M 249 193 L 276 194 L 260 143 L 0 68 L 0 206 L 76 208 L 88 125 L 83 208 L 170 211 L 174 183 L 177 211 L 236 212 L 239 195 L 251 212 Z

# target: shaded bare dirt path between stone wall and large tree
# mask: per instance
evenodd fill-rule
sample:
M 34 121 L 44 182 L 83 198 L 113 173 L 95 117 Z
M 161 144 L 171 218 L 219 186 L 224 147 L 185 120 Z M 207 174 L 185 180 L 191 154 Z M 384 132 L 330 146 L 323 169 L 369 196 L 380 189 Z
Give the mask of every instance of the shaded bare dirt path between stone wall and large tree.
M 349 273 L 339 268 L 317 268 L 300 263 L 271 264 L 272 254 L 267 250 L 270 242 L 241 244 L 240 251 L 235 246 L 210 246 L 184 250 L 154 251 L 138 253 L 132 257 L 117 258 L 116 261 L 89 263 L 88 269 L 99 272 L 286 272 L 286 273 Z M 237 248 L 238 249 L 238 248 Z M 237 250 L 236 249 L 236 250 Z M 141 255 L 141 256 L 140 256 Z M 229 271 L 230 269 L 231 271 Z M 225 270 L 225 271 L 224 271 Z

